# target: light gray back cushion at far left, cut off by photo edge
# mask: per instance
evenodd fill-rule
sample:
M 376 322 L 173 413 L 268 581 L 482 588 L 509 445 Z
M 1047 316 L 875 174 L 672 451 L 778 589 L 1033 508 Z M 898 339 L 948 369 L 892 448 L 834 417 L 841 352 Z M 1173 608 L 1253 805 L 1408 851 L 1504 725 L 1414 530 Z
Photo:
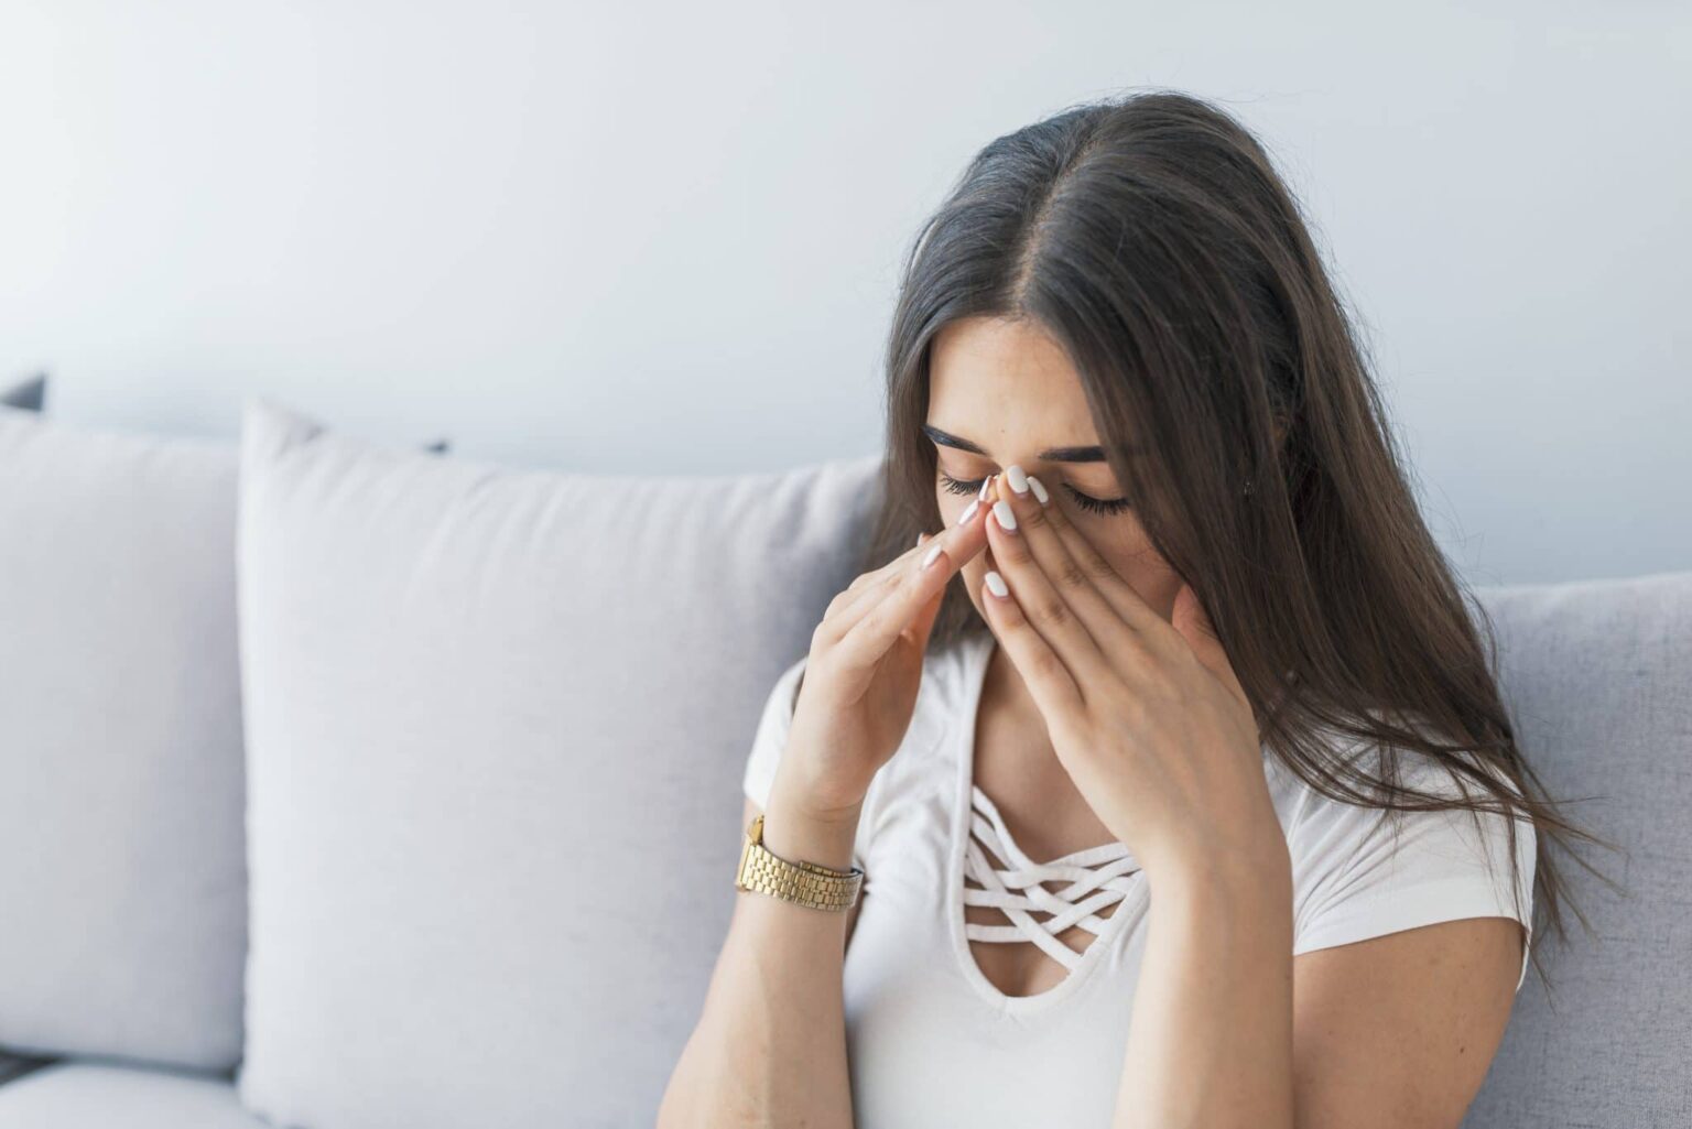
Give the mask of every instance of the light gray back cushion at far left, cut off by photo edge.
M 232 1068 L 233 443 L 0 411 L 0 1044 Z

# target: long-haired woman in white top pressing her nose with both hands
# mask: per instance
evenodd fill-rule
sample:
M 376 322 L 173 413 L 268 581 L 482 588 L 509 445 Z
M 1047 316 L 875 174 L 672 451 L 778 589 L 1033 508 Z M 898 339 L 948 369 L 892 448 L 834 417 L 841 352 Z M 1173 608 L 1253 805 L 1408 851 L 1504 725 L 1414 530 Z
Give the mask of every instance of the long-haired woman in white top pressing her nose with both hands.
M 992 142 L 888 403 L 660 1124 L 1459 1124 L 1590 836 L 1255 139 L 1151 91 Z

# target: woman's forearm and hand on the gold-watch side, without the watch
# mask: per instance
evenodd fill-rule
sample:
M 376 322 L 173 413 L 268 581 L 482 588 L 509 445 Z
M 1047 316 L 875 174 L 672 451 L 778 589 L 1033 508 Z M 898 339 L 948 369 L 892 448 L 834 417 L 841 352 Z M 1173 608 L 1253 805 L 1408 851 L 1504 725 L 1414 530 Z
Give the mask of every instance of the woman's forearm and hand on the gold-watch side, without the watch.
M 851 865 L 870 785 L 910 728 L 946 586 L 985 543 L 980 521 L 922 533 L 829 601 L 804 665 L 790 667 L 792 721 L 778 724 L 782 701 L 772 692 L 755 745 L 778 752 L 763 819 L 773 855 Z M 849 917 L 739 890 L 658 1129 L 851 1129 L 841 987 Z

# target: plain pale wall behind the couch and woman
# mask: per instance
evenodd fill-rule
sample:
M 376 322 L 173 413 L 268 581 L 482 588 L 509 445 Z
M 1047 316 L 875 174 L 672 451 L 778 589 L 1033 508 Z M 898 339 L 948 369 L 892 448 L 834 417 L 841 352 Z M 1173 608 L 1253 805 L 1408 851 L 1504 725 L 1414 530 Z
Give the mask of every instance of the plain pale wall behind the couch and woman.
M 1305 196 L 1474 582 L 1687 569 L 1689 12 L 3 0 L 0 381 L 607 472 L 863 454 L 964 159 L 1167 85 Z

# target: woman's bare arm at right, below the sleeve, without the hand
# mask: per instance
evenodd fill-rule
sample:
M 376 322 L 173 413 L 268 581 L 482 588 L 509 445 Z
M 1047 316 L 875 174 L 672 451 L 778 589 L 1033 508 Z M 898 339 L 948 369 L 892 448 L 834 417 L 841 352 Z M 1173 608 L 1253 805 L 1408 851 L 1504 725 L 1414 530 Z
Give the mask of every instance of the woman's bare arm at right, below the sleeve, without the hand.
M 1497 1053 L 1524 934 L 1480 916 L 1291 956 L 1276 863 L 1154 889 L 1115 1129 L 1453 1129 Z

